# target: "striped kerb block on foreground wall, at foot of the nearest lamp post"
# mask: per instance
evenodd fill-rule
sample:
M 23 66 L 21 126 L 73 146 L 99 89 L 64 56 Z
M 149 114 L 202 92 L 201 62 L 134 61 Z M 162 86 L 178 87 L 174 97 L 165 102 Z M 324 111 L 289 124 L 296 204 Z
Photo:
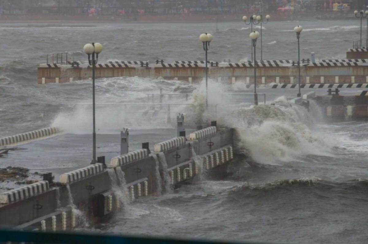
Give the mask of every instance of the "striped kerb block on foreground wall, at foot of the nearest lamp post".
M 71 184 L 79 180 L 88 178 L 93 175 L 97 175 L 103 172 L 103 164 L 93 164 L 81 169 L 77 169 L 68 173 L 60 175 L 60 183 Z

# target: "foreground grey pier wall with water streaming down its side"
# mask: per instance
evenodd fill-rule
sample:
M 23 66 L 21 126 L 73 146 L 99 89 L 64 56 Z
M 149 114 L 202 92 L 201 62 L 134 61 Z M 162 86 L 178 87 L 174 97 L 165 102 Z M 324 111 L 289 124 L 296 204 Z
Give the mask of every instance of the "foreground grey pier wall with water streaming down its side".
M 0 227 L 70 230 L 109 218 L 136 198 L 192 182 L 206 171 L 223 177 L 233 158 L 233 129 L 209 127 L 185 137 L 64 173 L 0 195 Z M 197 156 L 198 155 L 198 156 Z

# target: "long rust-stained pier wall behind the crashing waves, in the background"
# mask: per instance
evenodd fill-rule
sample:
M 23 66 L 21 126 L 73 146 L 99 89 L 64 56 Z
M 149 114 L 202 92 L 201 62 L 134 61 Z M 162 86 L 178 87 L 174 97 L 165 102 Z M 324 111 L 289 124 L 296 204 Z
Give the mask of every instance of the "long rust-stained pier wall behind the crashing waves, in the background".
M 302 64 L 302 84 L 344 84 L 368 83 L 368 60 L 322 60 L 318 63 Z M 179 62 L 179 61 L 178 61 Z M 183 62 L 183 61 L 180 61 Z M 204 64 L 174 63 L 174 64 L 127 64 L 127 62 L 110 62 L 96 65 L 96 78 L 110 77 L 151 77 L 164 79 L 188 80 L 197 82 L 205 77 Z M 142 67 L 141 67 L 142 66 Z M 253 64 L 229 63 L 209 64 L 209 77 L 229 83 L 242 81 L 254 83 Z M 282 84 L 296 84 L 298 67 L 291 60 L 264 60 L 258 63 L 257 84 L 271 82 Z M 38 83 L 65 83 L 75 80 L 91 79 L 91 67 L 71 67 L 61 64 L 41 64 L 38 68 Z

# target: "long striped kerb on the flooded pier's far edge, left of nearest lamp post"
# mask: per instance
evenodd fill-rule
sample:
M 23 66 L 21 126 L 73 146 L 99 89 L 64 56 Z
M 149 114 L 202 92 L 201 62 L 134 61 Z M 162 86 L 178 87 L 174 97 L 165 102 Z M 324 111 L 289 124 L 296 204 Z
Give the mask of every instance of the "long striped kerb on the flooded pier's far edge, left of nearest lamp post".
M 44 128 L 40 130 L 34 130 L 31 132 L 22 133 L 22 134 L 17 134 L 15 136 L 2 137 L 0 138 L 0 147 L 9 146 L 12 144 L 25 143 L 26 141 L 50 137 L 60 132 L 61 130 L 57 127 L 49 127 L 49 128 Z

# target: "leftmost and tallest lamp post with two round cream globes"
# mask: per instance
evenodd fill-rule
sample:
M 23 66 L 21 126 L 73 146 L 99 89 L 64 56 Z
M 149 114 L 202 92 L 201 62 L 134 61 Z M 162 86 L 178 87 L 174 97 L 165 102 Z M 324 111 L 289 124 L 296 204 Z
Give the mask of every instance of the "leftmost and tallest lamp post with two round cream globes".
M 92 110 L 93 110 L 93 155 L 91 164 L 95 164 L 96 160 L 96 113 L 95 113 L 95 65 L 98 62 L 98 54 L 102 51 L 100 43 L 88 43 L 83 47 L 84 52 L 88 55 L 88 63 L 92 65 Z M 92 60 L 91 60 L 92 56 Z

